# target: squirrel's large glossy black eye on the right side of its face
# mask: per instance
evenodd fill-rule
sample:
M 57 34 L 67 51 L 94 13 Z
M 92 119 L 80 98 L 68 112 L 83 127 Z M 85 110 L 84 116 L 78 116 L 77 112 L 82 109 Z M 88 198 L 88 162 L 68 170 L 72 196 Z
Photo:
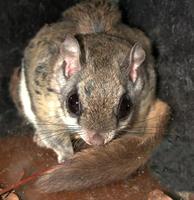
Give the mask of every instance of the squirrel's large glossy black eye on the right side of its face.
M 119 103 L 119 107 L 118 107 L 118 119 L 123 119 L 125 117 L 127 117 L 127 115 L 129 115 L 130 111 L 131 111 L 131 100 L 130 98 L 125 94 L 121 97 L 120 99 L 120 103 Z

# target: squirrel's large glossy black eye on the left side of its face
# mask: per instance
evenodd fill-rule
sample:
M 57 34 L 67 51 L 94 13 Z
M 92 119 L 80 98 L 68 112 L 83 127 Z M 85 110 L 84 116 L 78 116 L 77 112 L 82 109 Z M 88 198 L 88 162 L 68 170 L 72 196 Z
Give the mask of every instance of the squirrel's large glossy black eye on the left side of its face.
M 81 113 L 81 103 L 79 100 L 79 95 L 77 92 L 71 93 L 67 98 L 67 107 L 70 113 L 80 116 Z

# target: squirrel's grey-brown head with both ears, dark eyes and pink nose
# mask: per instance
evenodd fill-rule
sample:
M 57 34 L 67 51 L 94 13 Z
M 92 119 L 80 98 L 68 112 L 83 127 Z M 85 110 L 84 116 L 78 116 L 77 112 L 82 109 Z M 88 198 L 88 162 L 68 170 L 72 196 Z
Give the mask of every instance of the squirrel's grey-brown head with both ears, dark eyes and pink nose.
M 132 122 L 148 78 L 147 57 L 140 43 L 106 34 L 67 35 L 50 82 L 64 123 L 88 144 L 112 140 Z

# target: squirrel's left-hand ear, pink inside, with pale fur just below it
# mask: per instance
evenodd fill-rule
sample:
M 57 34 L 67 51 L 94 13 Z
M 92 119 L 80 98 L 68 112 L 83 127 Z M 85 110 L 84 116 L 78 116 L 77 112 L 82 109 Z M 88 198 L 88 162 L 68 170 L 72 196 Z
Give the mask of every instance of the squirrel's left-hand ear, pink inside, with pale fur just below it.
M 59 93 L 67 79 L 81 70 L 80 47 L 78 41 L 71 35 L 66 35 L 61 43 L 59 56 L 53 67 L 51 90 Z

